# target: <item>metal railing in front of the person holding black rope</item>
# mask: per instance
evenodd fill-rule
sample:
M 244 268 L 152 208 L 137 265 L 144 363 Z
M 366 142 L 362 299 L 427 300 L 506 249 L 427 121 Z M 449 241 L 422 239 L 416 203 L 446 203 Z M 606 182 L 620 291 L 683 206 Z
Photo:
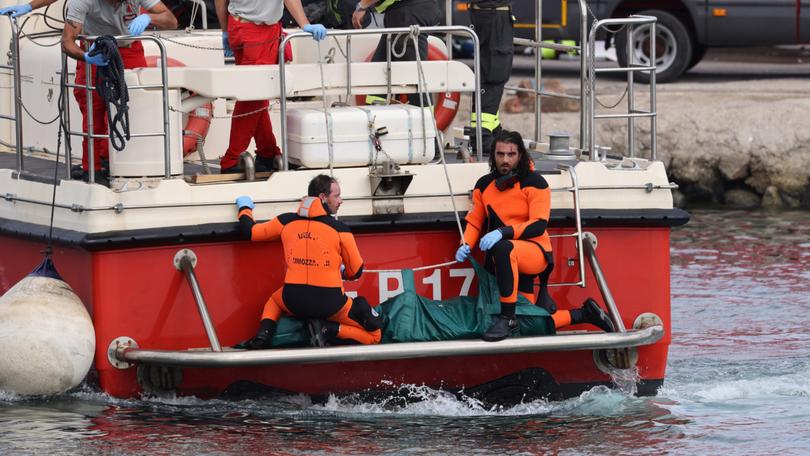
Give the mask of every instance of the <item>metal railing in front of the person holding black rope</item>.
M 94 42 L 99 37 L 98 36 L 83 36 L 80 35 L 79 40 L 86 41 L 86 42 Z M 131 133 L 131 138 L 143 138 L 143 137 L 155 137 L 155 136 L 162 136 L 163 137 L 163 160 L 164 160 L 164 178 L 169 179 L 171 177 L 171 158 L 170 158 L 170 137 L 169 137 L 169 73 L 168 73 L 168 59 L 166 54 L 166 46 L 160 40 L 160 38 L 152 35 L 141 35 L 141 36 L 130 36 L 130 35 L 121 35 L 116 36 L 116 40 L 124 40 L 124 41 L 152 41 L 157 45 L 158 50 L 160 51 L 160 76 L 161 76 L 161 83 L 160 84 L 140 84 L 129 86 L 128 89 L 161 89 L 163 95 L 163 131 L 156 132 L 156 133 Z M 76 62 L 76 65 L 81 65 L 81 62 Z M 85 65 L 85 83 L 84 85 L 70 83 L 67 80 L 67 54 L 65 54 L 64 50 L 62 51 L 62 74 L 64 77 L 61 78 L 61 90 L 67 90 L 68 88 L 77 88 L 77 89 L 84 89 L 85 90 L 85 103 L 86 103 L 86 118 L 87 118 L 87 131 L 73 131 L 70 129 L 70 110 L 68 109 L 68 97 L 63 98 L 63 107 L 64 116 L 65 116 L 65 125 L 67 128 L 67 138 L 65 141 L 66 150 L 65 150 L 65 163 L 67 165 L 67 178 L 70 179 L 70 163 L 72 158 L 72 148 L 70 144 L 70 137 L 71 136 L 81 136 L 87 141 L 87 162 L 88 162 L 88 182 L 93 183 L 95 182 L 95 156 L 93 154 L 93 139 L 95 138 L 105 138 L 110 139 L 110 134 L 96 134 L 93 128 L 93 91 L 97 90 L 96 86 L 92 85 L 92 65 L 87 62 L 84 62 Z

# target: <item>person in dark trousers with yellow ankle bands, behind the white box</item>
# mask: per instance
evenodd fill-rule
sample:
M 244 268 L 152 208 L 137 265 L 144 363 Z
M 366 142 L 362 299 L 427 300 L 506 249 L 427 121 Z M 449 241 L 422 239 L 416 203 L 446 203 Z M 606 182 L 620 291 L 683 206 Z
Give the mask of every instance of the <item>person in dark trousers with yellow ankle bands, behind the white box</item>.
M 439 9 L 437 0 L 360 0 L 357 3 L 357 8 L 352 15 L 352 25 L 354 28 L 363 28 L 367 10 L 374 7 L 378 13 L 385 13 L 383 25 L 386 28 L 394 27 L 410 27 L 411 25 L 419 25 L 421 27 L 430 27 L 439 25 L 442 22 L 442 12 Z M 405 40 L 405 43 L 403 43 Z M 422 61 L 427 61 L 427 35 L 424 33 L 419 35 L 419 58 Z M 404 54 L 400 57 L 394 55 L 402 50 L 405 46 Z M 392 61 L 407 61 L 416 60 L 416 54 L 413 49 L 413 41 L 407 35 L 400 35 L 399 38 L 391 40 L 391 60 Z M 372 62 L 385 62 L 386 60 L 386 39 L 385 36 L 380 37 L 380 42 L 377 44 L 377 49 L 371 58 Z M 411 95 L 409 103 L 421 106 L 419 94 Z M 385 104 L 384 96 L 368 95 L 366 96 L 366 104 Z

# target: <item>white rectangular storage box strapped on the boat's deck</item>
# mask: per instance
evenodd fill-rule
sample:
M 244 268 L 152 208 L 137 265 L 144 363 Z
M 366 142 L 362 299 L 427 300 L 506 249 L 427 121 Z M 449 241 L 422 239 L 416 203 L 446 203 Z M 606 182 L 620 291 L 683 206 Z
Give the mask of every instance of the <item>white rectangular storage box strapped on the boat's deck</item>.
M 424 112 L 424 135 L 422 129 Z M 332 126 L 332 166 L 367 166 L 387 159 L 398 164 L 427 163 L 435 155 L 433 112 L 411 105 L 347 106 L 328 110 Z M 372 131 L 386 127 L 377 152 Z M 306 168 L 328 168 L 326 119 L 323 109 L 287 111 L 287 147 L 290 163 Z M 376 156 L 376 158 L 375 158 Z

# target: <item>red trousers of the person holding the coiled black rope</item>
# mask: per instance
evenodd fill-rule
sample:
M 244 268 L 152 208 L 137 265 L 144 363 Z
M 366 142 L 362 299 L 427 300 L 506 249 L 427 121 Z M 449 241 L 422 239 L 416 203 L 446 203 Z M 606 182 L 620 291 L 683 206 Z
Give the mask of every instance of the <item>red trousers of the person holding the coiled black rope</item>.
M 124 61 L 124 68 L 133 69 L 146 66 L 146 58 L 143 55 L 143 45 L 140 41 L 134 41 L 130 47 L 118 48 L 121 53 L 121 60 Z M 76 62 L 76 84 L 85 85 L 85 63 L 83 61 Z M 92 86 L 96 85 L 96 66 L 91 65 L 91 82 Z M 87 97 L 85 89 L 74 88 L 73 96 L 79 103 L 79 109 L 82 111 L 82 131 L 87 133 Z M 107 126 L 107 105 L 98 94 L 98 90 L 93 90 L 93 133 L 97 135 L 106 135 L 108 133 Z M 110 140 L 109 138 L 93 138 L 93 167 L 96 170 L 101 169 L 101 161 L 109 160 L 110 157 Z M 87 155 L 87 138 L 82 140 L 82 168 L 85 171 L 90 169 L 90 159 Z

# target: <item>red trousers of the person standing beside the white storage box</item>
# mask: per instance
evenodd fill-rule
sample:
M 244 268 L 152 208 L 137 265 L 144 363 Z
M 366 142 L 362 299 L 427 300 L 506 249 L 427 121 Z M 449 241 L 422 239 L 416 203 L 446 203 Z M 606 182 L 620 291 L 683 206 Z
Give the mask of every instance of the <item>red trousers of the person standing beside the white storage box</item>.
M 234 16 L 228 18 L 228 44 L 237 65 L 278 64 L 280 36 L 281 23 L 261 25 L 244 22 Z M 247 149 L 252 138 L 256 140 L 256 155 L 272 158 L 281 154 L 270 124 L 269 106 L 268 100 L 236 102 L 231 119 L 230 143 L 219 162 L 223 169 L 239 163 L 239 154 Z M 254 114 L 241 117 L 248 112 Z

